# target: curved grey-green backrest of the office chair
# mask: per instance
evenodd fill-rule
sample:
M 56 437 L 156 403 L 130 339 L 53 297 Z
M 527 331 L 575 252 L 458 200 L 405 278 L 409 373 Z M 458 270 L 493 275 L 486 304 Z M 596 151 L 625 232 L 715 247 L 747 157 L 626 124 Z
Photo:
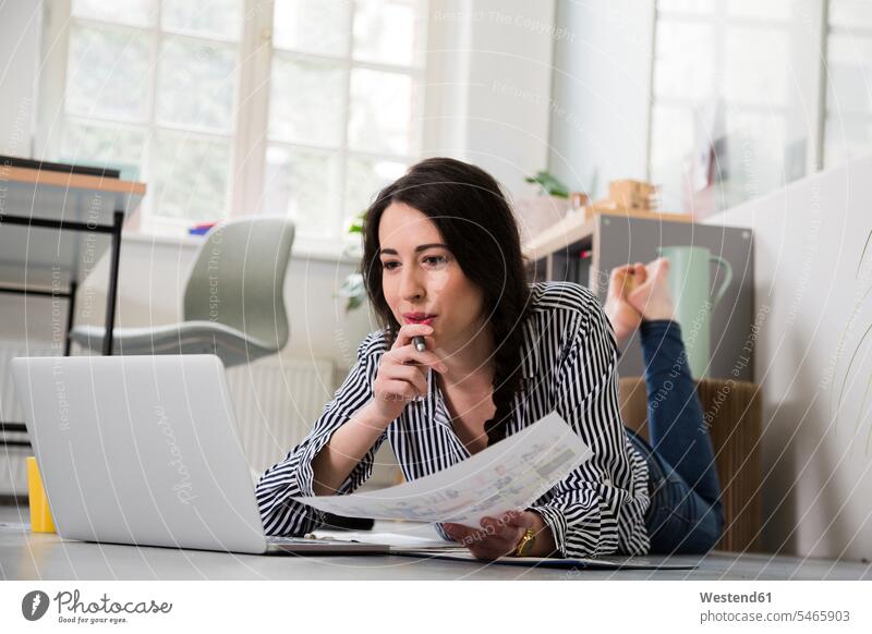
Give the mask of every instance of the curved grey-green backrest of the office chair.
M 251 216 L 206 234 L 184 291 L 185 321 L 217 321 L 280 350 L 289 336 L 284 276 L 294 223 Z

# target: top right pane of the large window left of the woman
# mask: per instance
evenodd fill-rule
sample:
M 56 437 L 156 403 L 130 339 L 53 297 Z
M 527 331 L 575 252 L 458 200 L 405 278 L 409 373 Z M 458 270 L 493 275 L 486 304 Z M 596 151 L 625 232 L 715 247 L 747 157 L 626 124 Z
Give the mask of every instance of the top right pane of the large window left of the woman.
M 354 58 L 410 65 L 415 62 L 419 23 L 415 0 L 356 0 Z

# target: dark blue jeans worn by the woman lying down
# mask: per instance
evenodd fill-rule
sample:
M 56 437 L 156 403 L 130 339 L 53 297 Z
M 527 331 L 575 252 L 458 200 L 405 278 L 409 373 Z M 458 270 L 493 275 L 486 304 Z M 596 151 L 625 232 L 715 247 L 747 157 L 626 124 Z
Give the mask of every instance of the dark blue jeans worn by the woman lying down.
M 651 444 L 631 429 L 649 466 L 651 552 L 705 553 L 720 538 L 724 512 L 708 429 L 677 321 L 640 326 Z

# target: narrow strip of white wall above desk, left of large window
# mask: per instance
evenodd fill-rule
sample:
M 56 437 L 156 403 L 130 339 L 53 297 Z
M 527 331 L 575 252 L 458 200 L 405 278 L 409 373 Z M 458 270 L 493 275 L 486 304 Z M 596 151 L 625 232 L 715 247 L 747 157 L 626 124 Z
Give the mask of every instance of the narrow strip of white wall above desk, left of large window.
M 41 2 L 0 2 L 0 154 L 29 157 L 39 62 Z

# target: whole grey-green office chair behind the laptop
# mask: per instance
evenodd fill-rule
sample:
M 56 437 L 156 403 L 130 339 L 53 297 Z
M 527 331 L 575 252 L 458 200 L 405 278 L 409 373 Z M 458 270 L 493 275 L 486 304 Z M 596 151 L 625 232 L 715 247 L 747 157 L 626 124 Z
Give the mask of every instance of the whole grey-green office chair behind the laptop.
M 116 328 L 114 354 L 216 354 L 226 367 L 279 352 L 289 338 L 284 276 L 294 223 L 252 216 L 221 222 L 206 234 L 185 284 L 183 321 Z M 70 339 L 92 351 L 105 329 L 78 326 Z

